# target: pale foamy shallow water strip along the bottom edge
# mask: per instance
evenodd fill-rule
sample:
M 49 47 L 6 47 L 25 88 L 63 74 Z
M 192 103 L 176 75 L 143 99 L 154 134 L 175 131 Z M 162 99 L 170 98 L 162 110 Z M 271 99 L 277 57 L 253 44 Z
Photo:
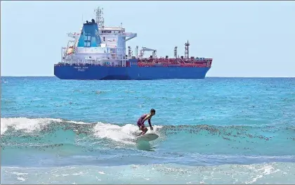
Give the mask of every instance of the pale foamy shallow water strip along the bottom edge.
M 124 165 L 2 167 L 3 183 L 18 184 L 292 184 L 295 163 L 254 165 Z M 25 174 L 25 175 L 20 175 Z M 65 175 L 66 174 L 66 175 Z

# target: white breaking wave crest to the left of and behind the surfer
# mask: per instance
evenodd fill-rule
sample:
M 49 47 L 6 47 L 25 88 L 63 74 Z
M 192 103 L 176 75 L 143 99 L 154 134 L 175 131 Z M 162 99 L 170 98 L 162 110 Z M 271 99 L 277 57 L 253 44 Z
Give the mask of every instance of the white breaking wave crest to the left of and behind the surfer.
M 154 125 L 154 131 L 162 126 Z M 1 135 L 35 136 L 42 134 L 63 134 L 63 131 L 74 132 L 75 134 L 86 134 L 94 136 L 96 139 L 110 139 L 115 142 L 131 144 L 134 143 L 135 136 L 140 133 L 136 125 L 113 125 L 103 122 L 76 122 L 72 120 L 62 120 L 53 118 L 27 118 L 27 117 L 9 117 L 1 118 Z M 16 132 L 16 133 L 15 133 Z M 91 140 L 89 138 L 89 140 Z

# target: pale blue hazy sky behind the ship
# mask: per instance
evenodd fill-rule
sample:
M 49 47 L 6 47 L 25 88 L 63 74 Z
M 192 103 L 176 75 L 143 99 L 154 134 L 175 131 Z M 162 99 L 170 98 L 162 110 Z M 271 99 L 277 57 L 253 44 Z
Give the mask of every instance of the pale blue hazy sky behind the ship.
M 67 32 L 104 8 L 133 50 L 213 58 L 211 77 L 295 77 L 294 1 L 1 1 L 1 76 L 53 76 Z M 146 53 L 147 56 L 150 53 Z

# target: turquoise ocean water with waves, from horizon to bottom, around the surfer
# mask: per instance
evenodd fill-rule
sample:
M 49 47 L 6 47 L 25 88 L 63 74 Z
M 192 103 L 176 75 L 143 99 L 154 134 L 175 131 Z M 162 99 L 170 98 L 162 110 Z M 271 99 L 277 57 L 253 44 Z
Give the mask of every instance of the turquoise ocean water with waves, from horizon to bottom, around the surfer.
M 294 184 L 294 115 L 295 78 L 1 77 L 1 184 Z

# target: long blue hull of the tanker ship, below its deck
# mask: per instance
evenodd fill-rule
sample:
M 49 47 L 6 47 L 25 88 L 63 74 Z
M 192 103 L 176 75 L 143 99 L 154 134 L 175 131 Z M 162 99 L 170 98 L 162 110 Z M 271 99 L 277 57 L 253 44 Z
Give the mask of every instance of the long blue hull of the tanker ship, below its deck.
M 204 79 L 210 68 L 181 67 L 105 67 L 98 65 L 55 65 L 60 79 Z

